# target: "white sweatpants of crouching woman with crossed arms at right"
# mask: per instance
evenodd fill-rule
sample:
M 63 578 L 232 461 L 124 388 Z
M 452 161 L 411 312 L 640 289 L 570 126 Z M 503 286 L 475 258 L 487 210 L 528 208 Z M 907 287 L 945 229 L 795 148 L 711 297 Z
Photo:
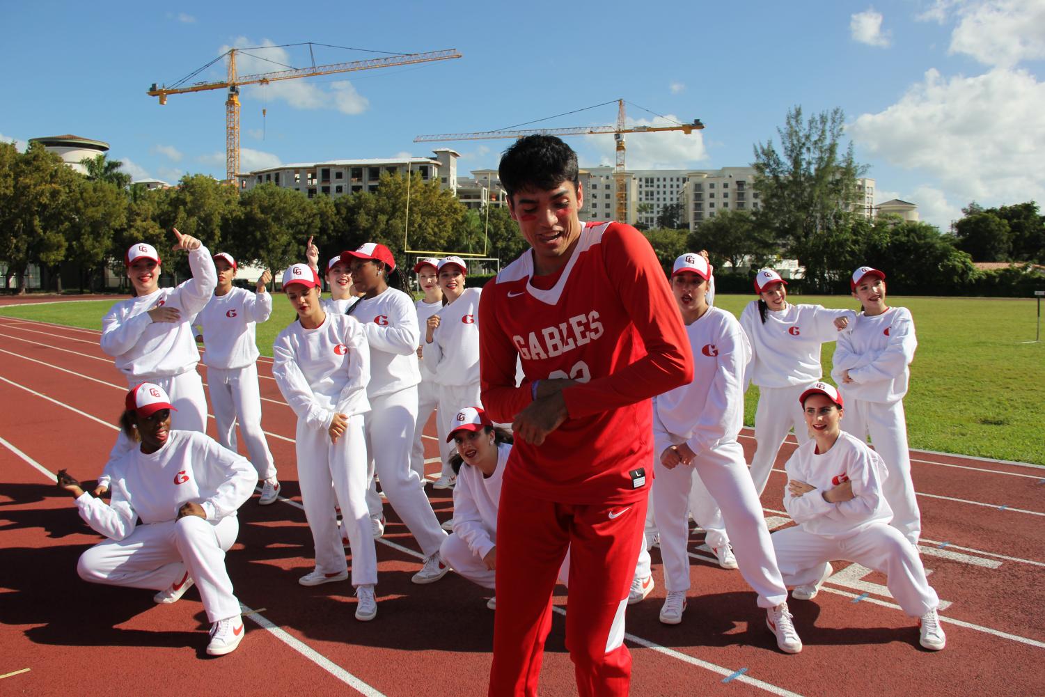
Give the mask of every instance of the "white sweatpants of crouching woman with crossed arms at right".
M 885 574 L 889 593 L 909 617 L 922 617 L 939 605 L 936 591 L 925 578 L 918 550 L 891 526 L 876 524 L 841 539 L 815 535 L 796 526 L 777 530 L 772 541 L 784 582 L 789 586 L 816 583 L 827 562 L 844 559 Z

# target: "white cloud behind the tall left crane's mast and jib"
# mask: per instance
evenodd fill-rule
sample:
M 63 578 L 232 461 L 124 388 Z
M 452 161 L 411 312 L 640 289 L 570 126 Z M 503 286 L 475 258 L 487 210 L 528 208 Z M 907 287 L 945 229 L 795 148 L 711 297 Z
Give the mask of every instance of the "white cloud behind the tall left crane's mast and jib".
M 223 46 L 219 50 L 225 53 L 230 48 L 247 48 L 254 45 L 256 42 L 239 37 L 234 46 Z M 284 70 L 293 65 L 294 60 L 286 49 L 276 47 L 269 39 L 261 42 L 261 48 L 236 55 L 236 72 L 240 75 Z M 370 101 L 356 92 L 347 79 L 318 85 L 305 77 L 243 89 L 259 98 L 285 101 L 295 109 L 335 109 L 343 114 L 354 115 L 362 114 L 370 108 Z

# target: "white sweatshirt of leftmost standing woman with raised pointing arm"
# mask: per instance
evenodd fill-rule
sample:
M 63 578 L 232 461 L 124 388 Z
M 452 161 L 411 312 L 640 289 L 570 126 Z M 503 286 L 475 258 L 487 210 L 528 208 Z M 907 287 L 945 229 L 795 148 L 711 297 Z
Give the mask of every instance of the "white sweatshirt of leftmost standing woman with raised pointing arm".
M 101 320 L 101 350 L 116 358 L 127 384 L 148 377 L 181 375 L 200 363 L 191 322 L 210 301 L 217 285 L 214 259 L 206 247 L 189 252 L 192 278 L 173 288 L 121 300 Z M 181 310 L 178 322 L 153 322 L 148 310 Z

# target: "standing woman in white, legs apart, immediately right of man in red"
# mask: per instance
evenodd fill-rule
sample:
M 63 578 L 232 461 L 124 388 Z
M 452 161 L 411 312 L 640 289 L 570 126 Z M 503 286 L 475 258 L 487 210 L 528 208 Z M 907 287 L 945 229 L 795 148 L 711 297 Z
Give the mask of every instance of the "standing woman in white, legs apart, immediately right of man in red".
M 766 626 L 786 653 L 802 651 L 787 607 L 787 588 L 776 567 L 762 505 L 747 473 L 737 435 L 744 419 L 744 370 L 750 347 L 740 323 L 704 299 L 707 262 L 697 254 L 675 260 L 671 289 L 693 350 L 693 380 L 653 399 L 653 502 L 660 532 L 668 596 L 660 622 L 678 624 L 690 588 L 687 508 L 692 478 L 701 479 L 721 508 L 737 565 L 759 595 Z

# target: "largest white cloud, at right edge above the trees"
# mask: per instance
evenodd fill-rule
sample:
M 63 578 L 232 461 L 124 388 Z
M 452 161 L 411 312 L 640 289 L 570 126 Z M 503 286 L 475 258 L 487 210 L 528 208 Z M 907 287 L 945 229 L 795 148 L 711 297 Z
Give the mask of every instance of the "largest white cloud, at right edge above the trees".
M 872 155 L 934 178 L 947 193 L 929 205 L 942 211 L 974 199 L 985 205 L 1045 201 L 1039 152 L 1045 84 L 1025 70 L 945 78 L 930 69 L 897 103 L 857 118 L 847 134 Z M 932 190 L 923 187 L 927 195 Z

